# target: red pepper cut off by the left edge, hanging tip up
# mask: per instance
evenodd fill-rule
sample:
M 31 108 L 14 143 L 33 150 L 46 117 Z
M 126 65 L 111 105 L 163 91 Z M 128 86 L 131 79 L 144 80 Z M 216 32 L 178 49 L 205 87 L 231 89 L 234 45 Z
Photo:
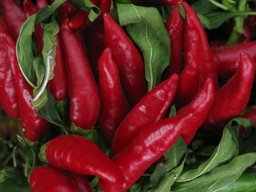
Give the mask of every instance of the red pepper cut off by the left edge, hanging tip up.
M 0 103 L 6 114 L 12 118 L 19 118 L 18 95 L 14 85 L 14 77 L 10 69 L 8 50 L 2 42 L 3 38 L 4 34 L 0 33 Z

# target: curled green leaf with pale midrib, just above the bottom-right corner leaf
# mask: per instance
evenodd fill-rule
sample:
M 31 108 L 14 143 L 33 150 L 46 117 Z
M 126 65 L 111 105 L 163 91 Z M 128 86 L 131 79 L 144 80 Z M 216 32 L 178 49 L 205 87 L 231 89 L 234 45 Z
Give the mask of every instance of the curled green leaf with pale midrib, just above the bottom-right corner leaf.
M 202 174 L 206 174 L 215 167 L 229 162 L 235 156 L 238 156 L 238 129 L 240 125 L 247 126 L 248 120 L 244 118 L 234 118 L 224 128 L 222 139 L 215 148 L 214 153 L 202 162 L 197 169 L 188 170 L 178 178 L 178 182 L 187 182 L 194 178 L 198 178 Z

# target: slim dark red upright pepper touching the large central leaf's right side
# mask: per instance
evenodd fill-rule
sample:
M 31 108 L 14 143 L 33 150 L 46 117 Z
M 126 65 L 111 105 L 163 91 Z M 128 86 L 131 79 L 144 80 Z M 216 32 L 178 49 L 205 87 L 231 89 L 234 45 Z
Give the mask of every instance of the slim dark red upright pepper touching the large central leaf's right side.
M 164 75 L 169 77 L 170 74 L 182 73 L 183 24 L 178 6 L 173 6 L 170 16 L 166 22 L 166 29 L 170 36 L 171 60 L 170 66 L 167 66 L 164 71 Z

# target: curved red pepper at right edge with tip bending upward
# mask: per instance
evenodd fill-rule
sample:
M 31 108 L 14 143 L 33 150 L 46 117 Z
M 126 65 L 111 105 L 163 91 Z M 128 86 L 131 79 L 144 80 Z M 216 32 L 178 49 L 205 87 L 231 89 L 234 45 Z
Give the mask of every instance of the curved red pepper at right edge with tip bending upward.
M 206 125 L 218 125 L 238 116 L 246 108 L 254 82 L 256 64 L 248 54 L 240 54 L 237 72 L 226 85 L 216 91 Z M 222 110 L 220 110 L 222 109 Z

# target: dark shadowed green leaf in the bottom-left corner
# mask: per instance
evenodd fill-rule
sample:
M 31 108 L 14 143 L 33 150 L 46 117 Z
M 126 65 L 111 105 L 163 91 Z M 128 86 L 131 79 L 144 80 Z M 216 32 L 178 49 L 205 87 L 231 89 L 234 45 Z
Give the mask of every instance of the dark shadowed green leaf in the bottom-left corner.
M 6 166 L 0 170 L 0 191 L 32 192 L 27 178 L 15 167 Z

